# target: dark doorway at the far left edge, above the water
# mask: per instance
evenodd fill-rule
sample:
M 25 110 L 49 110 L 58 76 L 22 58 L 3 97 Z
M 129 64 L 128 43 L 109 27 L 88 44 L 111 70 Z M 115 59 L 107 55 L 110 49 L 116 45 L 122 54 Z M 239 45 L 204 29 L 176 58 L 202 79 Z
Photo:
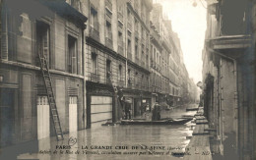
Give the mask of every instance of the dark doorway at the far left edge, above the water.
M 14 134 L 14 90 L 0 88 L 1 146 L 11 145 Z

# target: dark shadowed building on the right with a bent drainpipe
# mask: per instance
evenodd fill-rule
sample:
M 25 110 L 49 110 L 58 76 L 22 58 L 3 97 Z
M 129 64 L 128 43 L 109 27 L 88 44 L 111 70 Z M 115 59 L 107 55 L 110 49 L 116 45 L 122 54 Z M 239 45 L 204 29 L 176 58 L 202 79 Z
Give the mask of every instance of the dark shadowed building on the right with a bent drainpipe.
M 224 159 L 255 159 L 253 1 L 207 1 L 203 51 L 204 109 L 213 150 Z

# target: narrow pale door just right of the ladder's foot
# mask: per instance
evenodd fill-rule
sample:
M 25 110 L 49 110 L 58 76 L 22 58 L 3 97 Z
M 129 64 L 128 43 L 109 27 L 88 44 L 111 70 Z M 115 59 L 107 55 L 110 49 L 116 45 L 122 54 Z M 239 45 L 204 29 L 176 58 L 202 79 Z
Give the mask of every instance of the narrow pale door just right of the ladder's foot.
M 69 133 L 78 131 L 78 98 L 69 97 Z

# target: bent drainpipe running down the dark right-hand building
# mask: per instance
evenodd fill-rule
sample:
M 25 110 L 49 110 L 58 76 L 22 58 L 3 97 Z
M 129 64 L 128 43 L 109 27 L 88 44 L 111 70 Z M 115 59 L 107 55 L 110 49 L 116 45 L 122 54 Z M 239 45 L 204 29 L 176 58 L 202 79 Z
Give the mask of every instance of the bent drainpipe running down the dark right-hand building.
M 238 136 L 239 136 L 239 133 L 238 133 L 238 128 L 239 128 L 239 126 L 238 126 L 238 118 L 239 118 L 239 114 L 238 114 L 238 77 L 237 77 L 237 61 L 234 59 L 234 58 L 230 58 L 230 57 L 227 57 L 227 56 L 225 56 L 223 53 L 220 53 L 220 52 L 217 52 L 217 51 L 215 51 L 215 50 L 213 50 L 213 49 L 210 49 L 210 48 L 208 48 L 208 50 L 210 51 L 210 52 L 213 52 L 213 53 L 216 53 L 216 54 L 218 54 L 218 55 L 220 55 L 221 57 L 224 57 L 224 58 L 226 58 L 226 59 L 229 59 L 229 60 L 231 60 L 232 62 L 233 62 L 233 74 L 234 74 L 234 77 L 235 77 L 235 92 L 234 92 L 234 109 L 235 109 L 235 113 L 234 113 L 234 118 L 236 119 L 236 124 L 235 124 L 235 130 L 237 131 L 237 133 L 236 133 L 236 152 L 238 151 Z

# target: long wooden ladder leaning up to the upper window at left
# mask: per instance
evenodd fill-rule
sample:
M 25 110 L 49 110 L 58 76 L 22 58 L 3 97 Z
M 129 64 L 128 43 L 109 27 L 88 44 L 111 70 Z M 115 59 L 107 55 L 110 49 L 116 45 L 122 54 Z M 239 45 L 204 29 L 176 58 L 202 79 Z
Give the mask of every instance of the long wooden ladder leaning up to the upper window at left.
M 42 77 L 44 80 L 45 89 L 47 92 L 48 103 L 50 106 L 50 111 L 51 111 L 50 113 L 51 113 L 51 118 L 52 118 L 52 122 L 53 122 L 53 126 L 54 126 L 54 131 L 56 134 L 56 138 L 58 141 L 63 140 L 64 137 L 63 137 L 63 133 L 61 130 L 55 96 L 54 96 L 53 89 L 52 89 L 52 82 L 51 82 L 51 77 L 50 77 L 50 73 L 49 73 L 47 59 L 44 55 L 38 54 L 38 56 L 39 56 L 39 60 L 40 60 L 41 73 L 42 73 Z

